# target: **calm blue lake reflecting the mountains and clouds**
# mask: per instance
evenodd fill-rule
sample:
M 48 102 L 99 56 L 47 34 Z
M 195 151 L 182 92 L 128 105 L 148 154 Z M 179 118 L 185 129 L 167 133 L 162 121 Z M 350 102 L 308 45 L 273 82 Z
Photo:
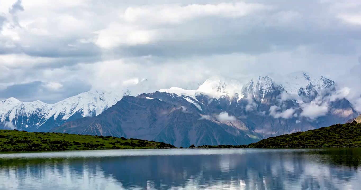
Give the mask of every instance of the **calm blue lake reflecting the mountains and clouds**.
M 361 189 L 361 149 L 0 154 L 0 190 Z

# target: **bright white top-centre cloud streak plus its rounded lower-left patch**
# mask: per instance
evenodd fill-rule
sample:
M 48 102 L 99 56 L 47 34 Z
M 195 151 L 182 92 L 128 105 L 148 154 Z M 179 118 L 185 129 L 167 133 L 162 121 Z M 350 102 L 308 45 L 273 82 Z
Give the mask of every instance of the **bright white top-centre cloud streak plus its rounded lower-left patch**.
M 118 22 L 112 22 L 107 28 L 97 31 L 95 44 L 110 49 L 122 45 L 142 45 L 164 39 L 167 33 L 158 24 L 181 23 L 197 17 L 219 16 L 238 18 L 260 10 L 269 10 L 271 7 L 262 4 L 248 3 L 221 3 L 147 5 L 129 7 L 119 16 Z M 172 36 L 172 35 L 171 35 Z

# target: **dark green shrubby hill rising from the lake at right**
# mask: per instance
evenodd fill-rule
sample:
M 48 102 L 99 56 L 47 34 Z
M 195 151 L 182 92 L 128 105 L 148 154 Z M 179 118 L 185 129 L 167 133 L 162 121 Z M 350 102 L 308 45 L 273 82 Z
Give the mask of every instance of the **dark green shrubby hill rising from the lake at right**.
M 361 123 L 337 124 L 290 135 L 269 137 L 249 145 L 199 146 L 198 148 L 335 148 L 361 147 Z

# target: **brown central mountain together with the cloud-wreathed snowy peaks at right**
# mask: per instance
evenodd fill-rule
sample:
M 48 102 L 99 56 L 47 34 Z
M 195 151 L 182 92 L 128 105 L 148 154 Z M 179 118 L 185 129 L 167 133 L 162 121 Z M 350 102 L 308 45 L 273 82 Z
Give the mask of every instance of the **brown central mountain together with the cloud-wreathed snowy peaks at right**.
M 275 82 L 206 80 L 197 90 L 177 87 L 125 96 L 93 118 L 67 122 L 56 132 L 124 136 L 175 146 L 247 144 L 262 138 L 344 123 L 358 113 L 335 82 L 299 72 Z

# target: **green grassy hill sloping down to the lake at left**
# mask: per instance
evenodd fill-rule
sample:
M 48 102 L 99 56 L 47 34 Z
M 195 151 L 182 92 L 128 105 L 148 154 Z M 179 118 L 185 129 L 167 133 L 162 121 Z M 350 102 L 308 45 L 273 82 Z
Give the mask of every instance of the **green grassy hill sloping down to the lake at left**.
M 174 146 L 124 137 L 0 130 L 1 152 L 152 148 L 174 148 Z

